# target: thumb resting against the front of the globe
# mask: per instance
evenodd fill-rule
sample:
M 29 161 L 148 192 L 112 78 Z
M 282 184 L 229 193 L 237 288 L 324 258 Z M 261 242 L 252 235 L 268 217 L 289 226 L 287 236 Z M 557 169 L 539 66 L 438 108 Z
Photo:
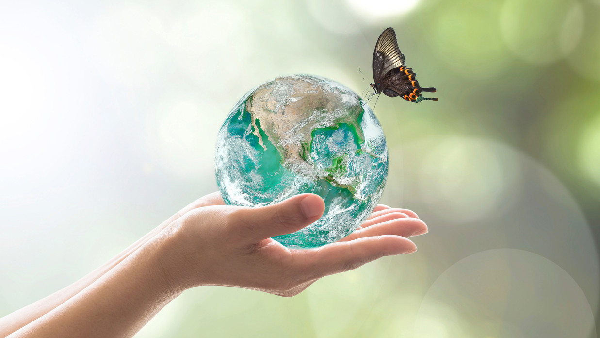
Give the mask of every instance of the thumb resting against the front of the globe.
M 232 214 L 232 229 L 249 243 L 257 243 L 305 228 L 324 211 L 325 202 L 319 195 L 301 194 L 268 207 L 239 208 Z

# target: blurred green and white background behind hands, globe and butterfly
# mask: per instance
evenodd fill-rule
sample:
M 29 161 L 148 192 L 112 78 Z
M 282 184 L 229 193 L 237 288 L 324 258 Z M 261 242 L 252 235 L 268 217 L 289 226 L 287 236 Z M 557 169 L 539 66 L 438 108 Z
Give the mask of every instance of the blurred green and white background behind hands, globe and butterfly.
M 191 289 L 136 337 L 596 337 L 598 0 L 3 2 L 0 316 L 216 190 L 254 86 L 367 89 L 388 26 L 439 97 L 375 109 L 418 252 L 293 298 Z

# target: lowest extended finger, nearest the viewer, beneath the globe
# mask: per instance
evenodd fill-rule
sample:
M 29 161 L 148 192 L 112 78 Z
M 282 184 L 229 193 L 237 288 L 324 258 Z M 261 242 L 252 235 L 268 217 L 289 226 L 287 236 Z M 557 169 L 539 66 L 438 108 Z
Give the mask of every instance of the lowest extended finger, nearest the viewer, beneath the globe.
M 349 242 L 327 244 L 306 250 L 305 266 L 299 268 L 307 280 L 353 270 L 383 256 L 416 251 L 415 243 L 406 237 L 383 235 L 359 238 Z

